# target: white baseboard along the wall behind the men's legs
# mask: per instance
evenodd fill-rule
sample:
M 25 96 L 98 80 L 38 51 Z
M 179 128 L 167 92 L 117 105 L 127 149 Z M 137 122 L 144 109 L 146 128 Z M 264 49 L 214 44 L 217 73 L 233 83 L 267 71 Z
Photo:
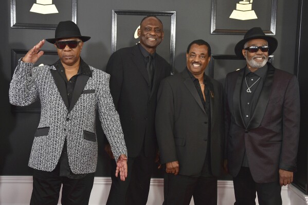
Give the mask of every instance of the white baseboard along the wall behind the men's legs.
M 110 177 L 95 177 L 89 204 L 106 204 L 111 187 Z M 0 176 L 0 204 L 26 205 L 29 204 L 32 193 L 32 176 Z M 293 185 L 281 190 L 283 205 L 307 205 L 308 196 Z M 61 196 L 60 196 L 61 197 Z M 164 200 L 164 180 L 151 179 L 151 187 L 147 205 L 159 205 Z M 59 200 L 60 201 L 60 200 Z M 235 201 L 233 182 L 218 181 L 218 205 L 232 205 Z M 258 205 L 258 199 L 256 199 Z M 59 202 L 59 204 L 61 204 Z M 193 205 L 193 199 L 190 205 Z

